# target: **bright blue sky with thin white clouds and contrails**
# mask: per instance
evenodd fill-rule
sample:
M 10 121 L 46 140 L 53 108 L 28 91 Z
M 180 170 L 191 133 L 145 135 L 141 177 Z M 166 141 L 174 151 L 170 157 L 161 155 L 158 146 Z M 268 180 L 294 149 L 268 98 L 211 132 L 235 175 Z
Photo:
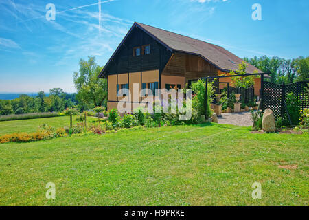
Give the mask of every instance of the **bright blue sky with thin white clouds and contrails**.
M 73 71 L 80 58 L 93 55 L 104 65 L 134 21 L 221 45 L 240 57 L 309 55 L 308 0 L 101 2 L 99 13 L 98 0 L 1 0 L 0 92 L 76 91 Z M 48 3 L 56 6 L 55 21 L 45 18 Z M 262 21 L 251 18 L 254 3 L 262 6 Z

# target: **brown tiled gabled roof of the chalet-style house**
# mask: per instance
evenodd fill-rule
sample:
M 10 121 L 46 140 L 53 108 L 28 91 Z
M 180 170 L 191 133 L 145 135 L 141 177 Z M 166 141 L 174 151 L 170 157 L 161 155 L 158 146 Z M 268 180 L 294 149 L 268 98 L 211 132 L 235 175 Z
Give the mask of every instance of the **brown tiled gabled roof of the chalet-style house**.
M 243 62 L 241 58 L 239 58 L 235 54 L 232 54 L 228 50 L 225 50 L 225 48 L 220 47 L 218 45 L 214 45 L 211 43 L 207 43 L 205 41 L 193 39 L 188 36 L 183 36 L 181 34 L 176 34 L 174 32 L 169 32 L 160 28 L 155 28 L 137 22 L 133 24 L 128 34 L 126 34 L 126 36 L 122 40 L 122 43 L 124 43 L 127 36 L 135 27 L 138 27 L 141 30 L 144 30 L 144 32 L 146 32 L 147 34 L 150 34 L 150 36 L 156 39 L 159 43 L 161 43 L 171 52 L 184 52 L 187 54 L 194 54 L 201 56 L 206 61 L 208 61 L 209 63 L 213 64 L 218 69 L 220 69 L 222 72 L 229 72 L 230 70 L 236 70 L 238 69 L 238 64 Z M 122 43 L 119 44 L 113 56 L 115 56 Z M 111 62 L 113 56 L 111 56 L 108 63 Z M 107 67 L 108 63 L 105 65 L 105 67 Z M 258 73 L 263 73 L 260 69 L 254 67 L 253 65 L 249 63 L 247 64 L 248 64 L 247 67 L 248 73 L 253 73 L 255 72 L 255 70 Z M 103 74 L 105 67 L 102 69 L 100 76 Z

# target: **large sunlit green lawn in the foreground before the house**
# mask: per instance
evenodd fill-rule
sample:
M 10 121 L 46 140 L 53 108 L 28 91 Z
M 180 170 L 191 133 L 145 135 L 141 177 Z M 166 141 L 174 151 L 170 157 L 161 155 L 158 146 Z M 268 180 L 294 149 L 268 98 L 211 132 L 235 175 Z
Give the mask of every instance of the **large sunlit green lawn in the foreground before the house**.
M 1 144 L 0 206 L 308 206 L 308 140 L 203 124 Z

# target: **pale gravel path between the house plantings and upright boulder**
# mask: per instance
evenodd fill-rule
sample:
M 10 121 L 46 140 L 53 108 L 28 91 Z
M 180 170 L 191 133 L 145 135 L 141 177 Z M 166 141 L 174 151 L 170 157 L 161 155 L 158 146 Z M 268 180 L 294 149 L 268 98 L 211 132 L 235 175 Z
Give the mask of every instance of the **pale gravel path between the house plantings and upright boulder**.
M 222 117 L 218 117 L 219 124 L 233 124 L 238 126 L 252 126 L 250 112 L 241 113 L 222 113 Z

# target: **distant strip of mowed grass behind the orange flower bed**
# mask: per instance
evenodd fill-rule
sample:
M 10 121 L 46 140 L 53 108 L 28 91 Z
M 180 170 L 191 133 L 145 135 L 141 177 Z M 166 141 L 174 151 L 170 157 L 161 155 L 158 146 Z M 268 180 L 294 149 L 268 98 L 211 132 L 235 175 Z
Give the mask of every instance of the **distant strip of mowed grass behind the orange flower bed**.
M 73 116 L 73 124 L 80 123 L 76 121 L 76 117 L 77 116 Z M 94 117 L 87 117 L 88 122 L 95 120 L 97 119 Z M 60 128 L 64 126 L 69 127 L 70 117 L 61 116 L 52 118 L 35 118 L 27 120 L 0 122 L 0 135 L 5 135 L 8 133 L 19 133 L 19 132 L 26 132 L 26 133 L 36 132 L 39 126 L 42 124 L 47 124 L 48 126 L 53 126 L 55 128 Z

